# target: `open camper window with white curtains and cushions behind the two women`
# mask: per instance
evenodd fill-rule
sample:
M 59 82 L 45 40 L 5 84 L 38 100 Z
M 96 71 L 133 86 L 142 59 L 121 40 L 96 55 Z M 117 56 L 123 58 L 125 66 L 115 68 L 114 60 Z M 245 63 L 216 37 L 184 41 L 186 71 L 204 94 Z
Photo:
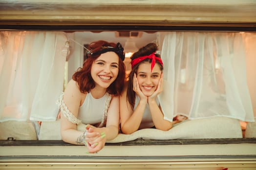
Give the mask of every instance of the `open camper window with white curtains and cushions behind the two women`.
M 105 37 L 130 55 L 150 42 L 165 65 L 160 102 L 166 119 L 188 119 L 161 132 L 141 129 L 108 144 L 147 138 L 245 138 L 256 108 L 254 32 L 0 31 L 1 140 L 61 140 L 56 104 L 88 43 Z M 163 100 L 164 99 L 164 100 Z M 249 126 L 250 127 L 250 126 Z M 253 136 L 252 136 L 253 137 Z

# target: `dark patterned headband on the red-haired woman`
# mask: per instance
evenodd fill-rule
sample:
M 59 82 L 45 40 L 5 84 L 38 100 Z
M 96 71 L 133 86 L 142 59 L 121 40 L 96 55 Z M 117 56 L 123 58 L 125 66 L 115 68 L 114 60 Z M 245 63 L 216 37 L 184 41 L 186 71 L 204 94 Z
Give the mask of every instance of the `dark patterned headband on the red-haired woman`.
M 124 52 L 124 48 L 122 47 L 122 45 L 118 42 L 116 44 L 116 47 L 106 47 L 106 46 L 103 46 L 101 47 L 101 51 L 96 51 L 96 52 L 92 52 L 93 49 L 91 49 L 90 51 L 88 51 L 86 53 L 86 58 L 88 57 L 87 55 L 90 54 L 91 56 L 96 56 L 96 55 L 100 55 L 100 54 L 103 54 L 103 53 L 106 53 L 108 51 L 113 51 L 115 52 L 120 58 L 122 61 L 125 60 L 125 52 Z

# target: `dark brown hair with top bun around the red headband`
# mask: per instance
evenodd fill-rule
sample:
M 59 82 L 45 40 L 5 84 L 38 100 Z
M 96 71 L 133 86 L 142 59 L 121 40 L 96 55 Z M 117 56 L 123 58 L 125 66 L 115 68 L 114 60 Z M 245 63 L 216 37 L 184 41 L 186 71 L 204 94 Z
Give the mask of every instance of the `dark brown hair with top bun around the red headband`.
M 141 57 L 141 56 L 150 55 L 152 52 L 155 52 L 155 51 L 157 51 L 157 45 L 155 43 L 149 43 L 145 47 L 142 47 L 141 49 L 139 49 L 139 51 L 135 52 L 131 56 L 131 61 L 134 60 L 135 58 L 138 58 L 138 57 Z M 159 54 L 155 54 L 155 56 L 160 57 Z M 131 69 L 129 77 L 128 77 L 127 100 L 129 102 L 129 104 L 131 105 L 131 108 L 133 108 L 134 105 L 135 105 L 135 96 L 136 96 L 135 92 L 133 91 L 133 83 L 132 83 L 133 76 L 134 76 L 134 73 L 137 75 L 137 70 L 139 68 L 139 65 L 141 63 L 145 63 L 145 62 L 151 63 L 152 60 L 151 59 L 145 59 L 145 60 L 141 61 L 140 63 L 138 63 L 137 65 L 135 65 Z M 160 69 L 163 70 L 163 66 L 158 61 L 156 61 L 156 63 L 160 66 Z

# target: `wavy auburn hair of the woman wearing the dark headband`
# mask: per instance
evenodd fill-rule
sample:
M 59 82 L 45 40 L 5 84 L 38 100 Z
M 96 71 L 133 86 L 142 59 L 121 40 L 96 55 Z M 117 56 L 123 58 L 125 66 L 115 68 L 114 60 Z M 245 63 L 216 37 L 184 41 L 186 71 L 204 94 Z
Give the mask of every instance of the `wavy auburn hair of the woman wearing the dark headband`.
M 97 53 L 97 51 L 102 51 L 102 47 L 116 47 L 115 43 L 107 42 L 103 40 L 92 42 L 89 45 L 90 53 L 87 54 L 87 58 L 83 64 L 82 68 L 78 68 L 77 71 L 73 74 L 72 79 L 75 80 L 80 88 L 82 93 L 88 93 L 91 89 L 95 87 L 95 82 L 91 77 L 91 66 L 92 63 L 102 54 L 99 52 L 96 55 L 93 53 Z M 93 53 L 91 52 L 93 51 Z M 104 52 L 103 52 L 104 53 Z M 117 54 L 119 56 L 119 54 Z M 120 58 L 118 57 L 118 75 L 116 80 L 107 87 L 107 92 L 111 95 L 117 96 L 120 95 L 124 84 L 125 84 L 125 64 Z

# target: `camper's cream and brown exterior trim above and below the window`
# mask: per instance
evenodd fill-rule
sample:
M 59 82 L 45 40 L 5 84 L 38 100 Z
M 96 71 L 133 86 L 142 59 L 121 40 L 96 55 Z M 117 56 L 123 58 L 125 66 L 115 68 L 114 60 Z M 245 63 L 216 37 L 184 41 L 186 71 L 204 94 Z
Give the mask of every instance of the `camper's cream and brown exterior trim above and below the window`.
M 256 3 L 246 4 L 90 4 L 90 3 L 27 3 L 27 2 L 0 2 L 0 31 L 209 31 L 209 32 L 256 32 Z M 232 139 L 174 139 L 174 140 L 146 140 L 137 139 L 118 144 L 106 144 L 111 147 L 143 146 L 153 149 L 156 145 L 168 147 L 171 150 L 176 146 L 190 147 L 219 146 L 235 149 L 247 149 L 242 154 L 227 150 L 226 153 L 206 153 L 196 155 L 175 156 L 103 156 L 78 154 L 72 156 L 63 153 L 56 156 L 54 153 L 40 155 L 39 153 L 19 153 L 19 150 L 31 147 L 73 147 L 81 146 L 67 144 L 63 141 L 26 141 L 0 140 L 0 169 L 20 169 L 33 167 L 45 169 L 111 169 L 122 168 L 150 168 L 150 169 L 215 169 L 219 167 L 240 167 L 250 169 L 256 167 L 255 138 Z M 22 148 L 21 148 L 22 147 Z M 183 150 L 186 150 L 186 147 Z M 252 150 L 250 150 L 250 148 Z M 1 151 L 9 152 L 4 154 Z M 171 152 L 170 150 L 170 152 Z M 182 148 L 181 148 L 182 150 Z M 60 152 L 61 153 L 61 152 Z M 193 155 L 194 154 L 194 155 Z M 66 162 L 68 164 L 66 164 Z

